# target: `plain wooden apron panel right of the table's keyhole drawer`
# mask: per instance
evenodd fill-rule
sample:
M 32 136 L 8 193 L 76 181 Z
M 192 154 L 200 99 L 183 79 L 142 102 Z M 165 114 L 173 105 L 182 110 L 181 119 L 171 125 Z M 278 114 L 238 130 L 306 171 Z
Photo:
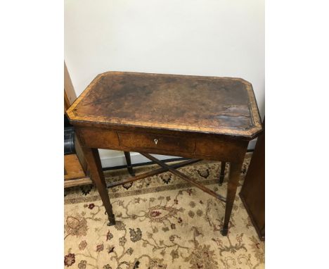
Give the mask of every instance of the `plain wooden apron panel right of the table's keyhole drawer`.
M 216 139 L 196 139 L 195 154 L 202 156 L 216 156 L 221 161 L 239 161 L 245 151 L 241 142 L 224 142 Z

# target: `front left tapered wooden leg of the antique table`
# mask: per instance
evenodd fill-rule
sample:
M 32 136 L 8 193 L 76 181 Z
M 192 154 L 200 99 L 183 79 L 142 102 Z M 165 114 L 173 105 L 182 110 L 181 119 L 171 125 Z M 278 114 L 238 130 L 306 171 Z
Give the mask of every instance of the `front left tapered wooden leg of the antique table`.
M 110 202 L 110 197 L 108 196 L 108 188 L 106 187 L 98 149 L 89 149 L 86 147 L 82 147 L 82 150 L 84 151 L 84 157 L 86 158 L 86 162 L 88 163 L 91 179 L 96 185 L 96 188 L 98 189 L 98 192 L 103 201 L 105 211 L 106 213 L 108 213 L 108 220 L 110 222 L 108 223 L 108 225 L 115 225 L 115 216 L 112 212 L 112 205 Z

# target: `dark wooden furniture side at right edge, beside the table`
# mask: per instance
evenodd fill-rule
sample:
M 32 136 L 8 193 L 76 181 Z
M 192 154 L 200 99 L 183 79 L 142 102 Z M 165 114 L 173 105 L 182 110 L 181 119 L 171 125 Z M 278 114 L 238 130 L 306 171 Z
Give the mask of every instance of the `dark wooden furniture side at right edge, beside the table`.
M 240 192 L 259 239 L 265 240 L 265 121 Z

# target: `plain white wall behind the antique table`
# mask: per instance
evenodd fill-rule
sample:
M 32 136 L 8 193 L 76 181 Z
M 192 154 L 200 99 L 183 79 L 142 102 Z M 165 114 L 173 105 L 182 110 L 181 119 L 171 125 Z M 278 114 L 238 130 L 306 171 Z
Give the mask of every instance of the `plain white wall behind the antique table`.
M 264 116 L 262 0 L 65 0 L 64 49 L 77 95 L 108 70 L 243 77 Z

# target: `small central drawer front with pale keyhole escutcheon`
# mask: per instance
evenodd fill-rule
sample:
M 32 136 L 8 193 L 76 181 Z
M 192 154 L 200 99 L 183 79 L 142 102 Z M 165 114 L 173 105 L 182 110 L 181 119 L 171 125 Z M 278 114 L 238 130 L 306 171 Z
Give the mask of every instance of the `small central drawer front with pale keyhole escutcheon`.
M 160 149 L 164 151 L 193 153 L 194 139 L 169 137 L 157 134 L 118 132 L 120 145 L 130 149 Z

